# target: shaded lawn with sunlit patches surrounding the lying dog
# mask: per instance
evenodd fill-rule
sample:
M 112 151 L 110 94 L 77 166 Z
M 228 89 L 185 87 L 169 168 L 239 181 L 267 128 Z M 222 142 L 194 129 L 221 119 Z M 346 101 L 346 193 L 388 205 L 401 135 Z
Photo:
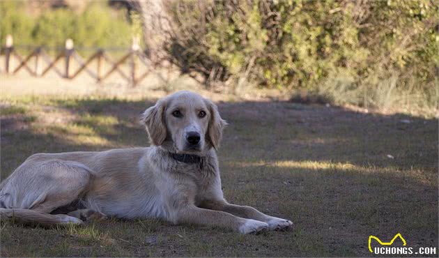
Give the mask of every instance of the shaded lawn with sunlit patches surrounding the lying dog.
M 1 98 L 1 178 L 38 152 L 147 146 L 155 98 Z M 288 232 L 118 220 L 44 229 L 1 221 L 1 257 L 371 256 L 369 235 L 438 246 L 438 120 L 291 102 L 219 103 L 224 195 Z M 408 122 L 407 122 L 408 121 Z

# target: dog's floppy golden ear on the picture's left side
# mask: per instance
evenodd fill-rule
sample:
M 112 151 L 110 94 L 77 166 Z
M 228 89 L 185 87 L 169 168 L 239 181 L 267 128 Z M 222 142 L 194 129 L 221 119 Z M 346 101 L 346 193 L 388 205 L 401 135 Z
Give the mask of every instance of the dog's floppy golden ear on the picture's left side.
M 146 109 L 140 116 L 140 121 L 148 132 L 149 140 L 155 146 L 162 145 L 167 137 L 164 109 L 164 100 L 158 100 L 153 107 Z

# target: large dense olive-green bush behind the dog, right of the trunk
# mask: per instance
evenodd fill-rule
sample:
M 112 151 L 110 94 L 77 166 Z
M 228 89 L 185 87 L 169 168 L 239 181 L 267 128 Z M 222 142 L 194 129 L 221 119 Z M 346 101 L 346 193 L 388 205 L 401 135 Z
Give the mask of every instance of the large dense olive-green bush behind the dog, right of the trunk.
M 370 106 L 383 101 L 364 94 L 378 98 L 372 92 L 383 84 L 394 87 L 392 94 L 434 87 L 439 15 L 433 1 L 181 0 L 169 13 L 174 63 L 208 83 L 332 89 Z M 392 78 L 396 85 L 383 83 Z

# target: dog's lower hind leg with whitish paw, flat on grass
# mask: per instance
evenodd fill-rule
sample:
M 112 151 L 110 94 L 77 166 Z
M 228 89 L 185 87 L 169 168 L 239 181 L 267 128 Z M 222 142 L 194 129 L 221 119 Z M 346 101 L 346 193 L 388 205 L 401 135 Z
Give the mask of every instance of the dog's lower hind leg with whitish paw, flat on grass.
M 68 225 L 68 224 L 82 224 L 79 218 L 71 217 L 66 214 L 49 214 L 41 211 L 33 211 L 26 208 L 0 208 L 0 220 L 9 218 L 14 222 L 21 222 L 31 225 Z

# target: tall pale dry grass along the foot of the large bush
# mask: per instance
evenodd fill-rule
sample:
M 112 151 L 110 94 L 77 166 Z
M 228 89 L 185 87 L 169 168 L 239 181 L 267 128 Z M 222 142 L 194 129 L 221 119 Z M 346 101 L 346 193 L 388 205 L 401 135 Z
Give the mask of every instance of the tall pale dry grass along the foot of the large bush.
M 358 83 L 353 77 L 328 78 L 314 89 L 293 91 L 291 100 L 299 103 L 329 103 L 362 107 L 382 114 L 408 114 L 424 118 L 439 116 L 437 83 L 420 84 L 415 79 L 404 83 L 401 76 L 387 79 L 371 77 Z

